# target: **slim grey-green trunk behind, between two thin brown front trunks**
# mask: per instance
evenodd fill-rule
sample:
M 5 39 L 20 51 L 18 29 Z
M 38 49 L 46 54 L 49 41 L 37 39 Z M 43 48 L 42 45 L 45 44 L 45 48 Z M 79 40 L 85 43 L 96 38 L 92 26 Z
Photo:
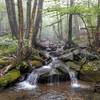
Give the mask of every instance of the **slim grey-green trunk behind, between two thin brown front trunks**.
M 32 0 L 27 1 L 27 14 L 26 14 L 26 38 L 29 37 L 29 29 L 30 29 L 30 16 L 31 16 L 31 3 Z

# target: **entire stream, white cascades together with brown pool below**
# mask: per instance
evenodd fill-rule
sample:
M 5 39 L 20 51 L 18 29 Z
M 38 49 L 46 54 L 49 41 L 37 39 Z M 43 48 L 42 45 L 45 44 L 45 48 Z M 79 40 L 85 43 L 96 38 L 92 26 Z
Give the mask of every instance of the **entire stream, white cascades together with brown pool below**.
M 24 81 L 1 91 L 0 100 L 100 100 L 100 94 L 94 92 L 92 83 L 79 81 L 70 66 L 57 57 L 49 56 L 49 64 L 34 69 Z M 57 82 L 53 83 L 52 75 L 57 73 L 60 65 L 68 72 L 70 81 L 59 82 L 58 75 Z M 51 77 L 47 84 L 40 84 L 38 79 L 44 73 Z

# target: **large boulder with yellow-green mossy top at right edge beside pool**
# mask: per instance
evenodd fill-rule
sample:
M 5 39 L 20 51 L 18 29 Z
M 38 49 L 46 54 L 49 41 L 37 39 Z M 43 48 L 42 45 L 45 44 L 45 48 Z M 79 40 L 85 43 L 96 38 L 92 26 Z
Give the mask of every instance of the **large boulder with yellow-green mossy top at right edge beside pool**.
M 99 82 L 100 81 L 100 67 L 99 62 L 88 62 L 84 64 L 80 70 L 79 78 L 84 81 L 89 82 Z

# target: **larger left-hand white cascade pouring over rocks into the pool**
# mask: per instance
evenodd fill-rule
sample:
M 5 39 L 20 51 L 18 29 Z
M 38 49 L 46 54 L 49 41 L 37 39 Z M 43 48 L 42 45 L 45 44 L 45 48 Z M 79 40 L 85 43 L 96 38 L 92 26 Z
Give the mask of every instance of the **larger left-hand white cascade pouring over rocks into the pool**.
M 42 66 L 32 71 L 32 73 L 27 77 L 27 79 L 18 84 L 18 89 L 34 89 L 37 87 L 38 77 L 44 73 L 52 73 L 55 70 L 58 60 L 56 57 L 52 57 L 52 62 L 48 65 Z M 52 81 L 52 80 L 50 80 Z

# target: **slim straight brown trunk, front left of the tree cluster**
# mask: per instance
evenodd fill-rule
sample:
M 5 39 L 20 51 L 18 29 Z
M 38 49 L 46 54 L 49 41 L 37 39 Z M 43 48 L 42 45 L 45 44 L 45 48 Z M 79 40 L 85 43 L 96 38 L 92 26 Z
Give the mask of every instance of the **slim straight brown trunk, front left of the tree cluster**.
M 23 6 L 22 6 L 22 0 L 18 0 L 18 18 L 19 18 L 19 39 L 18 39 L 18 45 L 19 45 L 19 55 L 22 56 L 23 54 Z

